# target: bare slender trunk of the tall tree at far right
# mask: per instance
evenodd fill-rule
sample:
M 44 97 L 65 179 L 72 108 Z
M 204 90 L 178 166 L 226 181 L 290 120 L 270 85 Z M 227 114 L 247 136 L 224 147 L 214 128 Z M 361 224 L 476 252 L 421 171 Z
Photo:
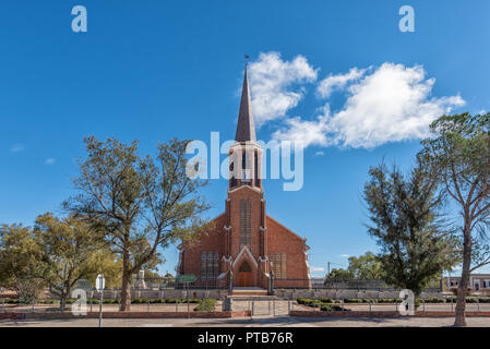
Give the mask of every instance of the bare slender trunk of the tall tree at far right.
M 471 230 L 469 229 L 469 222 L 467 221 L 464 230 L 464 242 L 463 242 L 463 270 L 457 288 L 457 300 L 456 300 L 456 318 L 454 321 L 454 326 L 466 326 L 466 291 L 469 284 L 469 266 L 471 264 Z

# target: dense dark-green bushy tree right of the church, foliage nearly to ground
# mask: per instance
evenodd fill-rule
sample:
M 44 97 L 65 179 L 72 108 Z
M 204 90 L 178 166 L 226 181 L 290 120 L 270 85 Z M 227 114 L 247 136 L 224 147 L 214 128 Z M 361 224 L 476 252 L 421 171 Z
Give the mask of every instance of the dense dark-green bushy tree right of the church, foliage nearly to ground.
M 417 166 L 408 178 L 382 164 L 371 168 L 364 200 L 372 225 L 369 233 L 381 248 L 383 280 L 415 296 L 456 263 L 452 236 L 437 216 L 441 196 L 437 177 Z

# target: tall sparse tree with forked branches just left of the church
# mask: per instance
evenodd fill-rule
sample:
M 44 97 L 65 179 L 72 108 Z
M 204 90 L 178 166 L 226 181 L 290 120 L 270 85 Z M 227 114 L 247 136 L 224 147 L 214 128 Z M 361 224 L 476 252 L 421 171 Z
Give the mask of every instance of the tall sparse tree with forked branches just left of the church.
M 131 276 L 159 262 L 158 248 L 206 229 L 208 208 L 199 195 L 206 182 L 187 176 L 187 141 L 159 144 L 155 160 L 138 154 L 138 142 L 85 139 L 88 156 L 74 180 L 80 194 L 64 203 L 106 233 L 122 261 L 121 311 L 129 311 Z

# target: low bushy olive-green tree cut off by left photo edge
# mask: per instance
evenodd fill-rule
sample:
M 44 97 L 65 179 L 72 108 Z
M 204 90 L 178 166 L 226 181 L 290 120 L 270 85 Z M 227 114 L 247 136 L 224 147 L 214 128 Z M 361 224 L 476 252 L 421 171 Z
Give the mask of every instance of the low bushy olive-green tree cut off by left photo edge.
M 35 302 L 46 288 L 47 261 L 31 228 L 0 226 L 0 286 L 13 289 L 19 298 Z

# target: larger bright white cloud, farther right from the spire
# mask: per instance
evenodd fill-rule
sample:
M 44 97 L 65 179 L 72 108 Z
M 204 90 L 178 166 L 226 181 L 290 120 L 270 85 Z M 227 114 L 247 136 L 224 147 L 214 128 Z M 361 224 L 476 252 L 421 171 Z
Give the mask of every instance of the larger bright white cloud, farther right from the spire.
M 458 96 L 431 97 L 434 79 L 422 67 L 384 63 L 348 87 L 344 107 L 330 113 L 328 104 L 315 120 L 286 120 L 276 140 L 302 140 L 309 145 L 374 147 L 389 142 L 422 139 L 430 123 L 465 101 Z

